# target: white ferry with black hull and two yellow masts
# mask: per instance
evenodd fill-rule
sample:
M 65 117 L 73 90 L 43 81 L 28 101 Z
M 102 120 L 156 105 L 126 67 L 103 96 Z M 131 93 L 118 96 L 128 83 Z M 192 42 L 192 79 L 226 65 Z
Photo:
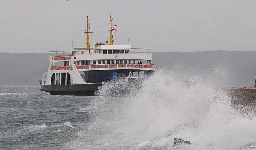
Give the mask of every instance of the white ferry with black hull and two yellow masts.
M 146 78 L 154 74 L 151 49 L 114 45 L 110 13 L 110 42 L 96 43 L 90 47 L 90 23 L 87 16 L 85 48 L 70 51 L 50 51 L 48 71 L 40 80 L 41 91 L 51 95 L 94 95 L 102 85 L 126 84 L 127 78 Z M 135 76 L 135 74 L 137 76 Z

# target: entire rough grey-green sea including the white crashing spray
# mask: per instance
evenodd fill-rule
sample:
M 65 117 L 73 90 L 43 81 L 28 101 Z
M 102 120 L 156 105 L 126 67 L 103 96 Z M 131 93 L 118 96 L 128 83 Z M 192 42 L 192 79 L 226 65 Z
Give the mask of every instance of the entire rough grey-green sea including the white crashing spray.
M 205 82 L 157 74 L 137 92 L 57 96 L 0 86 L 0 149 L 256 149 L 256 109 Z M 191 141 L 173 147 L 173 139 Z

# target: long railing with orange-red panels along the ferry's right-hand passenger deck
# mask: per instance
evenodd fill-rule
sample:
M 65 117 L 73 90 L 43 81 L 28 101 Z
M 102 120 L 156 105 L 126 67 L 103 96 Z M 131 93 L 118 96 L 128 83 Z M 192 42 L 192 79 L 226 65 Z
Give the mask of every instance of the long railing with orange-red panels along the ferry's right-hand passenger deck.
M 98 64 L 98 65 L 76 65 L 77 69 L 94 68 L 154 68 L 153 64 Z

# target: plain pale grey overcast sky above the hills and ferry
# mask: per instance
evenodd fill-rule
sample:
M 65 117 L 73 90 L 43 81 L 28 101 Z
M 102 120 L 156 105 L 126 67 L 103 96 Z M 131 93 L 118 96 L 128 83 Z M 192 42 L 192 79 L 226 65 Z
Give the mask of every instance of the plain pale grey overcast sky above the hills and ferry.
M 40 52 L 109 41 L 153 51 L 255 51 L 255 0 L 0 0 L 0 52 Z

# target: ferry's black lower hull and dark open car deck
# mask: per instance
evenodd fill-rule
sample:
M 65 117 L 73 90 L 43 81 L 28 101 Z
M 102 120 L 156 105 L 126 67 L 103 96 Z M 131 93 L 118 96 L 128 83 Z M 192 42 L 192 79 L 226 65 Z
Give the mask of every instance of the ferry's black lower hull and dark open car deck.
M 62 76 L 56 74 L 57 79 L 54 81 L 55 75 L 52 74 L 51 85 L 41 85 L 40 90 L 49 92 L 51 95 L 92 96 L 102 85 L 113 85 L 116 82 L 124 83 L 125 77 L 128 76 L 129 72 L 130 70 L 79 71 L 85 84 L 73 84 L 75 79 L 71 79 L 69 74 L 67 76 L 67 84 L 65 84 L 65 74 Z M 143 79 L 153 74 L 154 71 L 133 70 L 131 73 Z M 130 86 L 130 84 L 126 85 Z

